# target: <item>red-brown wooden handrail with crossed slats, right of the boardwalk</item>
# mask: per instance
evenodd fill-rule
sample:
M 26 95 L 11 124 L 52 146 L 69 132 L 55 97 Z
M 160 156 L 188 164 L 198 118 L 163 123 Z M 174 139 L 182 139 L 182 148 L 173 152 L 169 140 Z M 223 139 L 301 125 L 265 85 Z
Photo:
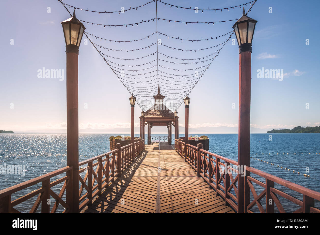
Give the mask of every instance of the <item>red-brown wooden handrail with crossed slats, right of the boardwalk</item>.
M 181 155 L 182 158 L 185 159 L 189 163 L 189 165 L 194 168 L 197 172 L 197 176 L 200 176 L 204 179 L 204 182 L 209 184 L 209 187 L 214 189 L 217 194 L 219 194 L 224 200 L 226 205 L 231 206 L 234 210 L 237 211 L 238 203 L 238 189 L 237 189 L 237 181 L 245 180 L 247 181 L 250 187 L 250 190 L 254 192 L 254 200 L 249 205 L 244 205 L 246 208 L 246 212 L 253 213 L 250 209 L 257 204 L 260 212 L 274 213 L 274 205 L 278 207 L 280 212 L 285 212 L 284 208 L 281 205 L 281 202 L 277 199 L 276 194 L 279 196 L 292 201 L 293 203 L 300 206 L 298 210 L 295 212 L 303 212 L 303 213 L 320 213 L 320 209 L 314 206 L 314 200 L 320 201 L 320 192 L 316 192 L 314 190 L 303 187 L 299 184 L 292 183 L 290 181 L 284 180 L 282 178 L 273 176 L 261 170 L 258 170 L 253 167 L 246 167 L 246 175 L 245 177 L 239 177 L 238 169 L 232 168 L 230 164 L 238 166 L 237 161 L 233 161 L 231 159 L 222 157 L 218 154 L 211 153 L 201 148 L 198 148 L 194 145 L 185 144 L 183 141 L 175 139 L 174 149 Z M 197 151 L 196 157 L 194 156 L 194 151 Z M 215 159 L 213 159 L 215 157 Z M 221 162 L 225 161 L 225 163 Z M 197 165 L 195 164 L 197 162 Z M 214 165 L 215 163 L 215 165 Z M 237 173 L 236 177 L 233 177 L 232 174 L 222 171 L 223 168 L 221 166 L 227 165 L 227 169 L 232 170 Z M 266 183 L 260 182 L 259 180 L 252 177 L 252 175 L 248 176 L 249 172 L 256 174 L 265 178 Z M 214 178 L 213 178 L 214 177 Z M 223 185 L 222 185 L 223 182 Z M 255 196 L 256 192 L 252 185 L 252 183 L 256 183 L 260 185 L 262 188 L 265 188 L 265 195 L 260 194 L 260 197 L 266 197 L 266 200 L 274 200 L 274 203 L 266 204 L 266 211 L 260 204 L 261 198 Z M 303 201 L 300 201 L 293 196 L 282 192 L 274 187 L 274 183 L 280 184 L 290 190 L 298 192 L 303 195 Z M 231 193 L 231 190 L 234 190 L 234 193 Z M 252 192 L 252 194 L 253 194 Z M 276 193 L 276 194 L 275 194 Z M 246 194 L 245 194 L 246 195 Z M 250 194 L 249 194 L 250 195 Z M 231 199 L 232 200 L 231 200 Z M 250 200 L 249 200 L 250 201 Z

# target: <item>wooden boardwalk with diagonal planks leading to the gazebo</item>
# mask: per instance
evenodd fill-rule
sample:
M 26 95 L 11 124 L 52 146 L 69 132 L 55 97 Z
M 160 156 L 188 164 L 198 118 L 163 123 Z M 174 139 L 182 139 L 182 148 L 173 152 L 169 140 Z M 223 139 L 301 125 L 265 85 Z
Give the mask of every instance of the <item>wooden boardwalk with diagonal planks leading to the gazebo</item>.
M 83 213 L 235 213 L 167 143 L 145 146 Z

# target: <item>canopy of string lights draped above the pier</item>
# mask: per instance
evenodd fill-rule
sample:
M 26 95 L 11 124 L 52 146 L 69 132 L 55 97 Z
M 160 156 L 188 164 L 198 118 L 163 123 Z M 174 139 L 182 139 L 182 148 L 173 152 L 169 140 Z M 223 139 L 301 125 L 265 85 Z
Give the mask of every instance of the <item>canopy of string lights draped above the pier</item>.
M 74 8 L 74 9 L 79 9 L 79 10 L 83 10 L 83 11 L 87 11 L 87 12 L 94 12 L 94 13 L 119 13 L 120 12 L 126 12 L 129 10 L 133 10 L 133 9 L 138 9 L 140 7 L 143 7 L 145 5 L 148 5 L 152 2 L 156 3 L 156 17 L 149 19 L 149 20 L 141 20 L 139 22 L 136 23 L 130 23 L 130 24 L 122 24 L 122 25 L 108 25 L 108 24 L 99 24 L 99 23 L 95 23 L 95 22 L 89 22 L 89 21 L 84 21 L 84 20 L 80 20 L 83 23 L 87 23 L 91 24 L 91 25 L 99 25 L 99 26 L 103 26 L 103 27 L 127 27 L 127 26 L 134 26 L 134 25 L 138 25 L 141 23 L 147 23 L 147 22 L 154 22 L 156 20 L 156 28 L 155 28 L 155 32 L 153 32 L 152 34 L 149 34 L 147 36 L 138 38 L 138 39 L 125 39 L 125 40 L 115 40 L 112 38 L 103 38 L 101 36 L 95 35 L 95 34 L 91 34 L 88 32 L 84 32 L 85 36 L 88 38 L 88 40 L 92 43 L 92 46 L 96 49 L 96 51 L 100 54 L 100 56 L 103 58 L 103 60 L 107 63 L 107 65 L 110 67 L 110 69 L 112 70 L 112 72 L 117 76 L 117 78 L 119 79 L 119 81 L 124 85 L 124 87 L 128 90 L 128 92 L 130 92 L 130 94 L 134 94 L 136 97 L 136 102 L 137 104 L 140 106 L 140 108 L 142 110 L 147 110 L 148 108 L 150 108 L 150 106 L 153 105 L 154 103 L 154 98 L 153 96 L 156 95 L 157 92 L 157 87 L 158 85 L 160 85 L 161 87 L 161 94 L 163 94 L 166 98 L 164 100 L 164 104 L 171 110 L 176 110 L 180 107 L 181 103 L 183 102 L 183 98 L 186 95 L 189 95 L 189 93 L 193 90 L 193 88 L 195 87 L 195 85 L 199 82 L 200 78 L 204 75 L 204 73 L 206 72 L 206 70 L 210 67 L 211 63 L 213 62 L 213 60 L 219 55 L 221 49 L 226 45 L 226 43 L 230 40 L 231 36 L 233 35 L 233 31 L 230 31 L 228 33 L 225 33 L 223 35 L 219 35 L 219 36 L 212 36 L 212 37 L 206 37 L 206 38 L 180 38 L 178 36 L 173 36 L 173 35 L 167 35 L 165 32 L 159 32 L 158 31 L 158 25 L 157 22 L 158 20 L 163 20 L 163 21 L 169 21 L 169 23 L 184 23 L 184 24 L 214 24 L 214 23 L 226 23 L 229 21 L 235 21 L 235 20 L 219 20 L 219 21 L 212 21 L 212 22 L 202 22 L 202 21 L 196 21 L 196 22 L 189 22 L 189 21 L 182 21 L 182 20 L 169 20 L 169 19 L 164 19 L 164 18 L 159 18 L 157 15 L 157 3 L 160 2 L 164 5 L 169 5 L 170 8 L 176 7 L 176 8 L 184 8 L 184 9 L 191 9 L 190 8 L 185 8 L 185 7 L 181 7 L 181 6 L 175 6 L 172 4 L 167 4 L 164 2 L 161 2 L 160 0 L 153 0 L 150 1 L 146 4 L 137 6 L 137 7 L 130 7 L 130 9 L 126 9 L 123 11 L 114 11 L 114 12 L 99 12 L 99 11 L 92 11 L 92 10 L 85 10 L 85 9 L 80 9 L 65 3 L 62 3 L 62 0 L 58 0 L 68 11 L 68 8 L 66 6 L 69 6 L 69 8 Z M 255 1 L 246 3 L 246 4 L 250 4 L 251 7 L 248 10 L 251 11 L 252 6 L 255 4 Z M 245 4 L 241 4 L 241 5 L 237 5 L 234 7 L 241 7 Z M 222 10 L 229 10 L 231 8 L 234 7 L 228 7 L 228 8 L 222 8 L 222 9 L 198 9 L 199 11 L 222 11 Z M 69 12 L 69 11 L 68 11 Z M 248 13 L 247 12 L 247 13 Z M 246 13 L 246 14 L 247 14 Z M 69 12 L 70 16 L 71 13 Z M 115 47 L 109 48 L 105 47 L 103 45 L 94 43 L 88 35 L 90 35 L 90 37 L 95 38 L 96 40 L 100 40 L 101 42 L 108 42 L 108 43 L 134 43 L 134 42 L 138 42 L 140 41 L 141 43 L 143 42 L 144 44 L 146 44 L 147 40 L 151 38 L 151 40 L 155 40 L 155 35 L 156 34 L 156 42 L 154 43 L 150 43 L 147 46 L 144 47 L 140 47 L 137 49 L 132 49 L 132 50 L 124 50 L 124 49 L 116 49 Z M 223 40 L 222 43 L 216 44 L 216 43 L 212 43 L 212 44 L 216 44 L 216 45 L 210 45 L 207 46 L 203 49 L 193 49 L 193 48 L 176 48 L 173 47 L 172 45 L 170 45 L 170 43 L 158 43 L 158 34 L 162 35 L 162 37 L 168 37 L 169 39 L 172 40 L 180 40 L 182 42 L 184 41 L 189 41 L 189 42 L 208 42 L 209 40 L 213 40 L 213 39 L 217 39 L 223 36 L 227 36 L 228 35 L 228 39 Z M 222 40 L 221 40 L 222 41 Z M 171 41 L 169 41 L 171 42 Z M 153 47 L 154 45 L 157 45 L 157 48 L 155 50 L 155 48 Z M 160 47 L 158 46 L 160 45 Z M 99 50 L 99 49 L 100 50 Z M 164 53 L 162 50 L 164 48 L 169 48 L 172 49 L 172 51 L 184 51 L 184 52 L 196 52 L 196 51 L 206 51 L 212 48 L 217 48 L 217 51 L 208 54 L 208 55 L 204 55 L 203 57 L 198 57 L 198 58 L 187 58 L 185 59 L 185 57 L 179 57 L 179 56 L 172 56 L 172 55 L 167 55 L 167 53 Z M 129 48 L 131 49 L 131 48 Z M 145 56 L 141 56 L 141 57 L 132 57 L 132 58 L 125 58 L 123 55 L 123 53 L 121 52 L 135 52 L 135 51 L 141 51 L 141 50 L 147 50 L 147 49 L 153 49 L 153 53 L 149 53 Z M 108 52 L 107 52 L 108 51 Z M 114 56 L 112 52 L 116 52 L 117 55 Z M 111 54 L 109 54 L 109 52 L 111 52 Z M 121 56 L 118 56 L 121 55 Z M 155 57 L 153 57 L 155 56 Z M 153 58 L 152 58 L 153 57 Z M 135 63 L 136 60 L 143 60 L 142 62 L 140 62 L 139 64 Z M 131 65 L 126 65 L 124 63 L 119 62 L 120 60 L 122 61 L 133 61 L 133 64 Z M 154 64 L 156 62 L 156 65 Z M 171 67 L 171 66 L 165 66 L 164 64 L 173 64 L 173 65 L 179 65 L 179 67 Z M 190 64 L 195 64 L 196 66 L 192 66 L 192 68 L 190 68 Z M 197 65 L 199 64 L 199 65 Z M 149 66 L 148 66 L 149 65 Z M 150 70 L 150 71 L 149 71 Z M 167 71 L 168 70 L 168 71 Z M 170 72 L 169 72 L 170 70 Z M 199 70 L 199 71 L 197 71 Z M 174 72 L 176 71 L 176 72 Z M 189 71 L 189 72 L 188 72 Z M 190 71 L 193 71 L 190 72 Z

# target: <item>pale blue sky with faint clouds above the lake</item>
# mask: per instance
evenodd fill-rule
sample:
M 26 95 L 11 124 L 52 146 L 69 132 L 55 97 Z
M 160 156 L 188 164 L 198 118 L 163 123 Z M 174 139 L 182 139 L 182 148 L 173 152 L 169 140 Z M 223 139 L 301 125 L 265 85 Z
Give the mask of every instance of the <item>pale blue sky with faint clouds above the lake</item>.
M 167 0 L 168 1 L 168 0 Z M 67 4 L 92 10 L 119 11 L 146 3 L 137 1 L 75 1 Z M 171 4 L 201 8 L 224 8 L 246 1 L 168 1 Z M 32 132 L 65 132 L 66 80 L 38 78 L 38 69 L 64 69 L 66 67 L 65 42 L 60 22 L 69 18 L 58 1 L 4 1 L 6 11 L 1 14 L 2 56 L 0 129 Z M 48 13 L 50 7 L 50 13 Z M 272 7 L 272 13 L 269 13 Z M 319 1 L 262 1 L 258 0 L 248 16 L 258 20 L 252 43 L 251 124 L 256 132 L 273 128 L 319 125 Z M 249 6 L 245 7 L 248 9 Z M 70 9 L 72 11 L 72 9 Z M 124 14 L 94 14 L 76 11 L 80 20 L 103 24 L 127 24 L 155 17 L 155 4 Z M 158 17 L 185 21 L 230 20 L 241 17 L 242 9 L 229 12 L 199 12 L 170 9 L 158 4 Z M 188 38 L 205 38 L 222 35 L 232 30 L 234 21 L 214 25 L 183 25 L 158 21 L 158 31 Z M 85 25 L 86 32 L 114 40 L 134 40 L 155 32 L 155 22 L 134 27 L 108 28 Z M 234 39 L 235 36 L 232 36 Z M 13 39 L 13 45 L 12 44 Z M 82 40 L 79 51 L 79 123 L 81 129 L 92 132 L 112 132 L 116 128 L 129 128 L 129 92 L 111 71 L 91 43 Z M 309 45 L 306 45 L 309 39 Z M 154 43 L 137 42 L 134 45 L 108 44 L 106 47 L 140 48 Z M 93 40 L 97 44 L 100 40 Z M 150 43 L 151 42 L 151 43 Z M 218 42 L 218 41 L 217 41 Z M 211 43 L 165 41 L 179 48 L 204 48 Z M 188 44 L 189 43 L 189 44 Z M 212 43 L 213 44 L 213 43 Z M 171 56 L 178 52 L 165 51 Z M 131 52 L 118 52 L 131 53 Z M 146 54 L 138 52 L 135 55 Z M 189 52 L 188 58 L 201 57 L 207 52 Z M 130 56 L 130 54 L 117 54 Z M 181 55 L 181 54 L 180 54 Z M 238 123 L 239 89 L 238 46 L 228 42 L 212 62 L 210 68 L 196 84 L 189 97 L 190 128 L 235 128 Z M 282 81 L 257 78 L 258 69 L 283 69 Z M 65 71 L 64 71 L 65 73 Z M 155 91 L 156 94 L 156 91 Z M 232 108 L 235 103 L 236 108 Z M 306 108 L 306 103 L 309 108 Z M 85 108 L 85 104 L 86 107 Z M 177 110 L 180 125 L 184 126 L 184 106 Z M 135 108 L 138 125 L 139 106 Z M 158 129 L 157 132 L 166 132 Z M 214 129 L 212 129 L 214 132 Z M 226 130 L 228 132 L 228 130 Z M 234 132 L 234 131 L 231 131 Z

